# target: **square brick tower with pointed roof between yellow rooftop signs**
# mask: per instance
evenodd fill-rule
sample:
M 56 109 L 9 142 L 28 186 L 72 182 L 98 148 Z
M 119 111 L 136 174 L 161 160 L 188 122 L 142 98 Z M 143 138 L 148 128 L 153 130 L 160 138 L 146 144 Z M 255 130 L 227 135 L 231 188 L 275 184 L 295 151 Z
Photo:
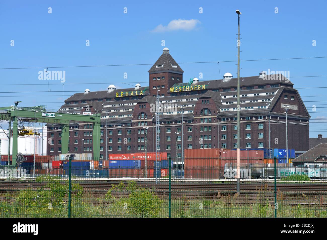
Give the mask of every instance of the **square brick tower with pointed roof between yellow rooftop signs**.
M 163 54 L 156 63 L 148 70 L 149 72 L 149 96 L 167 96 L 169 88 L 175 83 L 183 82 L 183 70 L 170 55 L 169 49 L 164 48 Z

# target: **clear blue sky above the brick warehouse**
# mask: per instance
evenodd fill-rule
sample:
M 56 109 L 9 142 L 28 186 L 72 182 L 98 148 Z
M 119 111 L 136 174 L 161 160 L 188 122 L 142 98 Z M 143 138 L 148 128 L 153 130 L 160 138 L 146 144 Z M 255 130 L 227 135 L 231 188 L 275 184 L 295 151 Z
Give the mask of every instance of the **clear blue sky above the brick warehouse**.
M 200 7 L 203 13 L 199 13 Z M 23 101 L 22 106 L 47 105 L 49 109 L 58 109 L 63 98 L 85 88 L 106 90 L 112 83 L 117 88 L 129 87 L 122 82 L 147 86 L 150 65 L 50 67 L 153 64 L 163 47 L 170 49 L 178 63 L 221 62 L 220 76 L 217 63 L 180 64 L 184 81 L 199 77 L 200 72 L 203 73 L 200 80 L 219 79 L 225 72 L 237 76 L 235 62 L 223 63 L 237 60 L 235 9 L 242 12 L 241 60 L 327 56 L 326 19 L 319 12 L 326 7 L 326 1 L 1 2 L 0 68 L 41 68 L 0 69 L 3 84 L 0 104 L 8 106 L 19 100 Z M 169 27 L 169 22 L 179 19 L 192 21 L 187 22 L 186 29 Z M 163 28 L 158 27 L 160 24 Z M 11 40 L 14 46 L 10 46 Z M 86 40 L 90 46 L 86 46 Z M 313 40 L 316 46 L 312 46 Z M 241 62 L 240 75 L 254 76 L 269 68 L 285 70 L 290 71 L 295 88 L 322 87 L 327 86 L 327 77 L 292 76 L 327 75 L 326 62 L 327 58 Z M 48 87 L 46 80 L 39 80 L 38 72 L 44 67 L 66 71 L 65 85 L 51 80 L 49 83 L 57 85 Z M 125 72 L 127 79 L 124 79 Z M 327 136 L 327 113 L 323 113 L 327 112 L 325 91 L 299 89 L 312 117 L 310 137 L 318 133 Z M 312 112 L 312 105 L 316 105 L 316 112 Z

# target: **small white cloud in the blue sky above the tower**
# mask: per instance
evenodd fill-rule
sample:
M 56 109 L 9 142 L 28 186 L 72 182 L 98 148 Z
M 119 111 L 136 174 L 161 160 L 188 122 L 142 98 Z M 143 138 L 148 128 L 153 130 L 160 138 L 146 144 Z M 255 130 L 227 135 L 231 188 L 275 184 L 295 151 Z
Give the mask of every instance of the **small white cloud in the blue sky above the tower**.
M 185 30 L 190 31 L 194 29 L 197 24 L 201 24 L 201 22 L 197 19 L 185 20 L 185 19 L 178 19 L 172 20 L 168 23 L 167 26 L 163 26 L 162 24 L 156 26 L 152 32 L 168 32 L 168 31 L 177 31 L 177 30 Z

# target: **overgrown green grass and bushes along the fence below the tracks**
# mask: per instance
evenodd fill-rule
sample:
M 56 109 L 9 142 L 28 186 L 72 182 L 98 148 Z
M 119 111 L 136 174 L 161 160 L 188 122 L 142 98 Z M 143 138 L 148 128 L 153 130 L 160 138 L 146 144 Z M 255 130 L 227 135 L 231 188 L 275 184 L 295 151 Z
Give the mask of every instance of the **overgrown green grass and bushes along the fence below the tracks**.
M 44 188 L 0 194 L 0 217 L 67 217 L 67 186 L 46 179 Z M 42 180 L 40 180 L 42 181 Z M 74 185 L 71 217 L 168 217 L 168 198 L 159 198 L 155 187 L 145 189 L 134 182 L 113 185 L 106 195 Z M 128 190 L 128 192 L 127 192 Z M 176 191 L 176 190 L 175 190 Z M 165 190 L 167 193 L 167 191 Z M 181 190 L 179 190 L 181 192 Z M 235 194 L 216 191 L 215 197 L 181 196 L 171 200 L 172 217 L 274 217 L 273 190 L 267 185 Z M 174 193 L 172 192 L 173 196 Z M 277 217 L 327 217 L 325 192 L 278 191 Z

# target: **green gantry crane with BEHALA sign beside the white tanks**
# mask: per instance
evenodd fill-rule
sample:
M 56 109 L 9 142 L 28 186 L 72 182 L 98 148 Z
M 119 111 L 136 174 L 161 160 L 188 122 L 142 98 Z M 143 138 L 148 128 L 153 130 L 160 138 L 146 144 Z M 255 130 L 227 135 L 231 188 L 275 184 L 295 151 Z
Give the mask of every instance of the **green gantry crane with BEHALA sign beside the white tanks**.
M 93 158 L 100 157 L 100 114 L 83 112 L 82 114 L 47 112 L 45 106 L 20 108 L 16 106 L 1 107 L 0 120 L 9 121 L 9 129 L 12 122 L 12 165 L 16 165 L 18 143 L 18 118 L 24 122 L 61 124 L 61 153 L 68 153 L 69 122 L 92 122 Z M 84 115 L 85 114 L 85 115 Z M 86 115 L 87 114 L 87 115 Z M 10 146 L 10 131 L 9 131 Z M 10 149 L 10 148 L 9 148 Z M 10 150 L 8 160 L 10 159 Z

